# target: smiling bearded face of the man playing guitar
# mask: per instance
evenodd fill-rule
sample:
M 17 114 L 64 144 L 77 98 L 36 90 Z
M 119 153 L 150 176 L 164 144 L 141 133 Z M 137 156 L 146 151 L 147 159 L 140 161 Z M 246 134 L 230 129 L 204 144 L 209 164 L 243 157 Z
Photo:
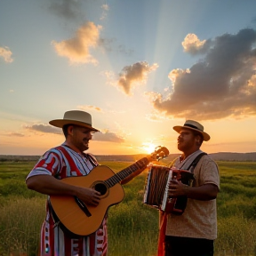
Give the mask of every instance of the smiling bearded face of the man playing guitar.
M 89 140 L 92 140 L 92 130 L 83 126 L 73 126 L 72 143 L 81 152 L 89 148 Z

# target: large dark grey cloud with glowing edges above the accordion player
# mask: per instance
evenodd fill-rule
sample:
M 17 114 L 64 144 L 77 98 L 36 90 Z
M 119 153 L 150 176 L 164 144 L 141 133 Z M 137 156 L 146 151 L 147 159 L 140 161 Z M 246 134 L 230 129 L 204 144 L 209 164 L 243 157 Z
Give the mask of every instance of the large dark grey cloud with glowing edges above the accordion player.
M 204 59 L 189 69 L 173 69 L 172 90 L 165 97 L 155 94 L 154 107 L 167 116 L 197 120 L 255 116 L 256 31 L 246 28 L 204 44 L 193 38 L 193 44 L 188 38 L 183 42 L 187 52 L 204 54 Z

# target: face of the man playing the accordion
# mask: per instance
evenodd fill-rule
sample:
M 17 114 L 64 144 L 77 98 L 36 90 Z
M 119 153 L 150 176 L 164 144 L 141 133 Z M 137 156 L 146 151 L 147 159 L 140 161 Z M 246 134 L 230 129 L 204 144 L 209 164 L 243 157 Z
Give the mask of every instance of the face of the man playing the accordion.
M 181 129 L 178 136 L 178 149 L 182 152 L 189 151 L 196 145 L 195 134 L 189 129 Z

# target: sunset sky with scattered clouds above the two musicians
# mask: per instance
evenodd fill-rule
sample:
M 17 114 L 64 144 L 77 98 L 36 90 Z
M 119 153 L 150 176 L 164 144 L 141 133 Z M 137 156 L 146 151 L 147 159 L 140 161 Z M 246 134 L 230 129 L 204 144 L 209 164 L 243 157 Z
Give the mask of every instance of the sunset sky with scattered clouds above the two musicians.
M 0 0 L 0 155 L 60 145 L 49 124 L 84 110 L 94 155 L 256 152 L 256 1 Z

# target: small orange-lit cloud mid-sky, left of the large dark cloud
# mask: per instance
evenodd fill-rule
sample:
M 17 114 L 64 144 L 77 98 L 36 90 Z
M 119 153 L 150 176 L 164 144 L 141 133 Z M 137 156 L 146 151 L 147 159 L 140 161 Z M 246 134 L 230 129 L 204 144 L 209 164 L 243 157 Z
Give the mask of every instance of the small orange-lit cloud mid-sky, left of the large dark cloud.
M 149 66 L 146 61 L 126 66 L 119 74 L 117 86 L 126 94 L 131 94 L 132 87 L 138 84 L 144 84 L 148 79 L 148 74 L 151 71 L 156 70 L 156 68 L 158 68 L 156 63 Z

